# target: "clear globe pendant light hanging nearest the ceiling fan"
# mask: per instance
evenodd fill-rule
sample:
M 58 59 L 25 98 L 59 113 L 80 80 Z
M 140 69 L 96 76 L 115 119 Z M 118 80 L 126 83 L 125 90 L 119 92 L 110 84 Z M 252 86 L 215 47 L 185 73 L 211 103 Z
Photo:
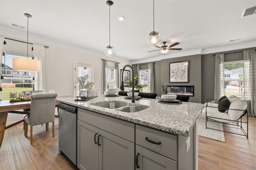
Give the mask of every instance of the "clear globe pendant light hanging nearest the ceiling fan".
M 148 45 L 156 46 L 161 42 L 159 32 L 155 31 L 155 3 L 153 0 L 153 31 L 148 34 Z

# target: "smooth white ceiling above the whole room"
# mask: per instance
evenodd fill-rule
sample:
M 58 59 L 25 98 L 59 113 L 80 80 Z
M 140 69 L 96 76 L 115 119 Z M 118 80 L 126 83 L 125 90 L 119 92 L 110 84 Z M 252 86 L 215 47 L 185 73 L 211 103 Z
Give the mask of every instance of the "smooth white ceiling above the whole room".
M 27 25 L 29 33 L 49 41 L 68 43 L 104 53 L 108 45 L 108 10 L 105 0 L 0 0 L 0 25 Z M 113 0 L 111 6 L 111 45 L 116 57 L 137 60 L 160 55 L 148 53 L 156 47 L 147 44 L 153 30 L 152 0 Z M 256 15 L 240 18 L 256 0 L 155 0 L 155 30 L 168 45 L 182 51 L 206 49 L 256 40 Z M 119 21 L 118 16 L 124 16 Z M 18 29 L 18 28 L 14 28 Z M 22 29 L 18 29 L 22 30 Z M 26 32 L 26 30 L 22 30 Z M 230 40 L 239 39 L 236 42 Z M 180 51 L 169 51 L 177 53 Z

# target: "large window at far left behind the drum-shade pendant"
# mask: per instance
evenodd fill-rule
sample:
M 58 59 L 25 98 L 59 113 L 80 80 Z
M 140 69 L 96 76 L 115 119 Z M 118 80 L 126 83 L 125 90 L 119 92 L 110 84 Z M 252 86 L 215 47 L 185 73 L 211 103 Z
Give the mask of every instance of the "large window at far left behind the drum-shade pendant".
M 1 100 L 10 100 L 10 92 L 17 92 L 18 94 L 22 91 L 31 91 L 34 88 L 34 73 L 27 72 L 24 76 L 19 74 L 18 71 L 12 70 L 12 59 L 20 57 L 27 58 L 25 56 L 4 54 L 2 57 L 2 97 Z M 32 57 L 28 57 L 32 58 Z

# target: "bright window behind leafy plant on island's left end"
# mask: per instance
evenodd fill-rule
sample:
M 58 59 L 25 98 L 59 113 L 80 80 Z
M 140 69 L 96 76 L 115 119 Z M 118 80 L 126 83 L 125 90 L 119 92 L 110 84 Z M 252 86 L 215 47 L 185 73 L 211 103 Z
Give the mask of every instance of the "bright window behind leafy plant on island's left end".
M 75 69 L 74 69 L 74 82 L 77 80 L 78 77 L 82 77 L 84 75 L 88 75 L 87 81 L 93 82 L 93 66 L 82 64 L 82 63 L 75 63 Z M 82 89 L 81 87 L 78 87 L 78 85 L 74 85 L 74 95 L 78 96 L 78 90 Z

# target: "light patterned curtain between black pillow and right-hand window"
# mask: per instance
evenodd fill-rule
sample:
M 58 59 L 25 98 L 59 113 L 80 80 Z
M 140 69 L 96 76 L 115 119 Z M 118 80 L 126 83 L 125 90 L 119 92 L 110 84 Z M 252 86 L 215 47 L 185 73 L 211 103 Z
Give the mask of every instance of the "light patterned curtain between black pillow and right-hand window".
M 216 54 L 214 100 L 218 100 L 220 99 L 220 97 L 224 95 L 225 95 L 224 54 Z

